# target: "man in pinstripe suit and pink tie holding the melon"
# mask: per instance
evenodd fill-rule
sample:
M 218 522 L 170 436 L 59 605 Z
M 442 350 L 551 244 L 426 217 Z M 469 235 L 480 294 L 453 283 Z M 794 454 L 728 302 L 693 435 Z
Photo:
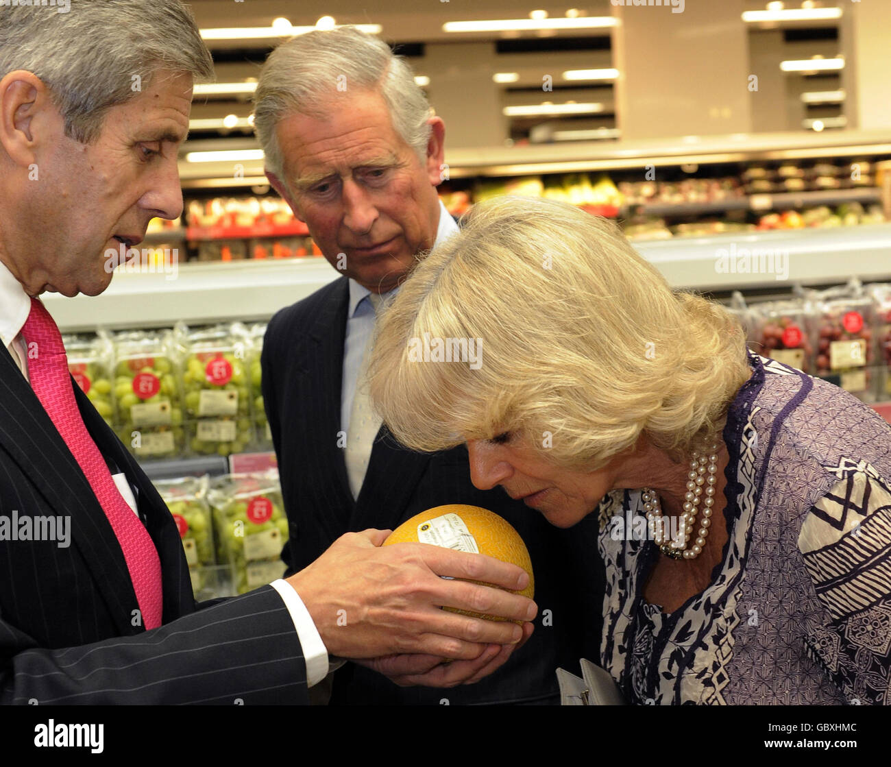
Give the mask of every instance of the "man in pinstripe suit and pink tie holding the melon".
M 527 576 L 379 548 L 386 531 L 339 538 L 287 581 L 195 602 L 173 519 L 74 385 L 36 297 L 102 292 L 104 249 L 180 215 L 177 147 L 193 79 L 213 64 L 177 0 L 71 11 L 0 7 L 0 701 L 302 703 L 333 656 L 400 683 L 494 671 L 531 625 L 437 606 L 527 621 L 535 604 L 440 575 L 506 589 Z

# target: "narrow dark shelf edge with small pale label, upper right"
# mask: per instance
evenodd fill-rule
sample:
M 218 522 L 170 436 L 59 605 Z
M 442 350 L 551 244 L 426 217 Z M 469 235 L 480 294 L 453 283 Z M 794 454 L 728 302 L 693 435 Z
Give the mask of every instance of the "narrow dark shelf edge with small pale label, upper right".
M 881 192 L 876 187 L 862 189 L 814 190 L 813 192 L 778 192 L 776 194 L 750 194 L 747 197 L 727 198 L 713 202 L 662 203 L 644 202 L 626 205 L 621 216 L 642 214 L 644 216 L 707 216 L 729 210 L 787 210 L 807 208 L 816 205 L 840 205 L 843 202 L 871 204 L 881 200 Z

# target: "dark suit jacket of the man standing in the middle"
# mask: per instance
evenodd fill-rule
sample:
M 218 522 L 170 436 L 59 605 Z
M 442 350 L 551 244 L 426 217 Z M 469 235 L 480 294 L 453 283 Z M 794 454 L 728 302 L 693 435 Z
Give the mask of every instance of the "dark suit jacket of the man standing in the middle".
M 289 572 L 306 567 L 339 535 L 393 528 L 446 503 L 493 510 L 527 544 L 535 571 L 539 617 L 526 646 L 477 684 L 453 689 L 399 688 L 361 666 L 335 677 L 331 703 L 438 704 L 557 702 L 555 669 L 576 668 L 600 647 L 602 565 L 597 520 L 570 530 L 495 489 L 470 482 L 465 447 L 436 455 L 412 453 L 381 428 L 359 497 L 347 483 L 340 430 L 340 390 L 349 288 L 346 277 L 276 314 L 263 347 L 263 394 L 290 520 L 282 551 Z M 545 612 L 548 611 L 548 612 Z

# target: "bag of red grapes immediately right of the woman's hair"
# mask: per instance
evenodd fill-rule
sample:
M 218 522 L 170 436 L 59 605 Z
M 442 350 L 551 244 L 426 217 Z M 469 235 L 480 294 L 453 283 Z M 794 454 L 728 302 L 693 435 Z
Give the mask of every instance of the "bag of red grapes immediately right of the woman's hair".
M 755 326 L 749 343 L 752 351 L 813 374 L 813 339 L 808 331 L 813 309 L 804 298 L 756 304 L 751 313 Z

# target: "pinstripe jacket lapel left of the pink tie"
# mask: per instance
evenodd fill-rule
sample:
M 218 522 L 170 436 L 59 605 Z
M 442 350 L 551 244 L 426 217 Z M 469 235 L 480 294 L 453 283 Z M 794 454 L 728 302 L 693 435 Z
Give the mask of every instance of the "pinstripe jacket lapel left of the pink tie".
M 54 514 L 70 516 L 72 544 L 93 575 L 95 588 L 102 593 L 119 632 L 132 634 L 131 614 L 139 606 L 118 539 L 34 389 L 3 344 L 0 350 L 0 447 L 18 464 Z M 71 386 L 78 388 L 73 380 Z M 94 410 L 92 405 L 89 410 Z

